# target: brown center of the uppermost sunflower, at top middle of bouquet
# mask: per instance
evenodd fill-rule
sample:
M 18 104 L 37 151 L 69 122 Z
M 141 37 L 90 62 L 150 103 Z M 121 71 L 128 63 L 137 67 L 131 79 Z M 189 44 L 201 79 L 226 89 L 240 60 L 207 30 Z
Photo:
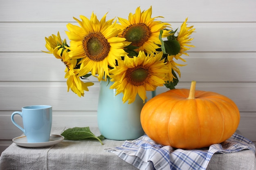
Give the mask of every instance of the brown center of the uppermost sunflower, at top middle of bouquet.
M 150 28 L 145 23 L 131 24 L 122 33 L 122 37 L 127 41 L 132 42 L 133 46 L 142 46 L 148 40 L 151 32 Z

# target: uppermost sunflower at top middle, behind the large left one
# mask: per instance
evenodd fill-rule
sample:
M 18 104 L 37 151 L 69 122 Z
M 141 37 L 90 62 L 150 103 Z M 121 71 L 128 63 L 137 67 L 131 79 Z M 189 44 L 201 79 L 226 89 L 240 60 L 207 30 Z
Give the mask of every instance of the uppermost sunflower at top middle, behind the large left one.
M 159 31 L 163 30 L 162 37 L 167 37 L 168 31 L 164 30 L 169 27 L 170 24 L 155 21 L 156 18 L 163 18 L 161 16 L 151 18 L 152 7 L 146 11 L 140 10 L 138 7 L 135 14 L 130 13 L 128 20 L 124 18 L 118 18 L 121 24 L 117 24 L 117 28 L 123 30 L 119 33 L 119 37 L 126 38 L 128 42 L 131 42 L 132 46 L 139 47 L 136 51 L 145 51 L 146 53 L 156 52 L 159 49 L 161 42 L 159 40 Z

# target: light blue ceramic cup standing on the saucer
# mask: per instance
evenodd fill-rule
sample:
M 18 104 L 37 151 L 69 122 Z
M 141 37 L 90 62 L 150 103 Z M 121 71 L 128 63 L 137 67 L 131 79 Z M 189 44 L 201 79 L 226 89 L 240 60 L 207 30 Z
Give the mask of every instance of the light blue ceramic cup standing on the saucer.
M 23 127 L 14 121 L 14 115 L 22 117 Z M 12 123 L 27 137 L 28 143 L 47 142 L 52 128 L 52 106 L 34 105 L 22 107 L 11 114 Z

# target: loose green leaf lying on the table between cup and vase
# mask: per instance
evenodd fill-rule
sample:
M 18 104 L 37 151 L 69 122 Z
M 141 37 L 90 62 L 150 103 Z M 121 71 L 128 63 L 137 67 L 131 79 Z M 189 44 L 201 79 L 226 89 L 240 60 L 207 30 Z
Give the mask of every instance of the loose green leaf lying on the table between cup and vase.
M 97 139 L 101 145 L 102 139 L 105 139 L 103 135 L 100 135 L 96 137 L 90 130 L 89 127 L 84 127 L 84 128 L 79 128 L 79 127 L 74 127 L 74 128 L 69 128 L 67 130 L 64 130 L 63 133 L 61 133 L 63 137 L 67 140 L 82 140 L 82 139 Z

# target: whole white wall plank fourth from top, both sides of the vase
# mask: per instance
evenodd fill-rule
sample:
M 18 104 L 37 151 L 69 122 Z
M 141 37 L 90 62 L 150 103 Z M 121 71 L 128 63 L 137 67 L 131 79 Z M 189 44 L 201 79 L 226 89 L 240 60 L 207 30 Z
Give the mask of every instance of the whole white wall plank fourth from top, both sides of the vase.
M 191 82 L 180 82 L 176 88 L 190 88 Z M 197 90 L 213 91 L 232 99 L 241 112 L 256 112 L 256 83 L 197 82 Z M 157 94 L 167 91 L 158 87 Z M 89 87 L 85 97 L 67 93 L 65 82 L 2 82 L 0 110 L 20 110 L 22 106 L 45 104 L 54 110 L 97 110 L 99 82 Z M 147 93 L 148 99 L 151 93 Z

